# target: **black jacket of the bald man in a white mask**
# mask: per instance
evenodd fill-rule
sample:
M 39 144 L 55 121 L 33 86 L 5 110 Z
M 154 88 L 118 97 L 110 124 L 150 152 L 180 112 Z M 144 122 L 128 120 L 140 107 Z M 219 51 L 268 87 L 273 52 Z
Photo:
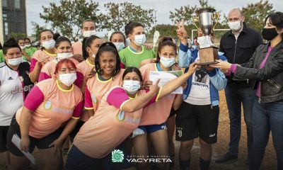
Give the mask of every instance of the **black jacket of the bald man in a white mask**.
M 228 62 L 233 64 L 241 64 L 246 67 L 249 62 L 250 57 L 253 56 L 255 49 L 262 45 L 262 37 L 258 31 L 248 28 L 246 23 L 243 23 L 243 30 L 238 39 L 236 40 L 235 35 L 233 35 L 232 30 L 225 33 L 220 40 L 220 52 L 224 52 L 225 57 Z M 226 77 L 228 83 L 246 84 L 244 86 L 249 86 L 248 80 L 238 79 L 238 77 Z

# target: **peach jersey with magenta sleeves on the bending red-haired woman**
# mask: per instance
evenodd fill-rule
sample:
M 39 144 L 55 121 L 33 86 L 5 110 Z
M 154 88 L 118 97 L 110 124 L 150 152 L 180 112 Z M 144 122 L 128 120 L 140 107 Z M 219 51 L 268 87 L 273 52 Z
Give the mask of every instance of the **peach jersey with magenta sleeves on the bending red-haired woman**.
M 58 80 L 46 79 L 36 84 L 30 91 L 23 106 L 33 111 L 29 135 L 40 139 L 61 127 L 70 118 L 79 119 L 83 108 L 83 96 L 77 86 L 64 90 Z M 20 125 L 20 108 L 16 120 Z

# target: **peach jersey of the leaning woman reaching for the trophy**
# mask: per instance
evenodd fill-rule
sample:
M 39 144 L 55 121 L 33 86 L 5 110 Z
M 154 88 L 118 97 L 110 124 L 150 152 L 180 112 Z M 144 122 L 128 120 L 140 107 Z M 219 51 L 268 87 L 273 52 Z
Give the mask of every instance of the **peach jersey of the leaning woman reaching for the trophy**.
M 137 96 L 145 93 L 139 91 Z M 139 126 L 142 108 L 133 113 L 122 111 L 129 100 L 125 89 L 112 87 L 101 99 L 96 114 L 79 130 L 74 145 L 92 158 L 102 158 L 112 152 Z M 152 98 L 148 104 L 155 100 L 156 97 Z

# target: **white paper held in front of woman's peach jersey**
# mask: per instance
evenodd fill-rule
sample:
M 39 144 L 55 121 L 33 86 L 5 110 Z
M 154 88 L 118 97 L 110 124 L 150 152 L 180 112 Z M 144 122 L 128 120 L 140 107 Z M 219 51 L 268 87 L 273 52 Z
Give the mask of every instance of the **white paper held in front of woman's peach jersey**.
M 160 79 L 158 86 L 163 86 L 164 84 L 168 83 L 168 81 L 171 81 L 173 79 L 176 79 L 177 77 L 180 77 L 180 75 L 183 74 L 182 70 L 177 71 L 166 71 L 166 72 L 149 72 L 149 80 L 153 81 L 154 83 Z M 178 89 L 173 91 L 171 94 L 183 94 L 183 88 L 180 86 Z

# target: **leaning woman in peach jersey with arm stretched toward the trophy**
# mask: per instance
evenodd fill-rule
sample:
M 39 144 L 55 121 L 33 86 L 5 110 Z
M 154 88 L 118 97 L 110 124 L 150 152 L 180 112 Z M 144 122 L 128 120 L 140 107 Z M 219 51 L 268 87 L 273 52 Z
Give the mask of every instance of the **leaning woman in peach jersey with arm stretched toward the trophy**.
M 103 169 L 134 169 L 126 159 L 129 157 L 124 141 L 138 127 L 143 108 L 181 86 L 196 67 L 193 64 L 189 72 L 161 89 L 156 82 L 149 91 L 139 90 L 142 84 L 139 69 L 127 68 L 122 75 L 123 85 L 112 87 L 103 96 L 96 114 L 76 135 L 65 168 L 93 169 L 102 162 Z

